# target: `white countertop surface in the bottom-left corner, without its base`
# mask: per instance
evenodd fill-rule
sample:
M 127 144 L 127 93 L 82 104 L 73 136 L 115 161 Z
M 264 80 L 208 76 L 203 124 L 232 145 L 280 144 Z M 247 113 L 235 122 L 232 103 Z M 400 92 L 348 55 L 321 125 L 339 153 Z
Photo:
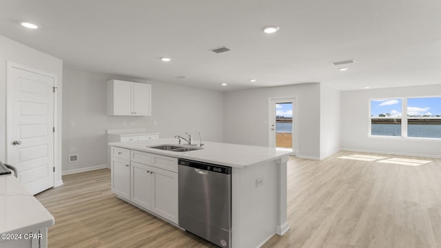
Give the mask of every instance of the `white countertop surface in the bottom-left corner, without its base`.
M 54 223 L 54 216 L 17 178 L 0 176 L 0 234 L 25 234 Z

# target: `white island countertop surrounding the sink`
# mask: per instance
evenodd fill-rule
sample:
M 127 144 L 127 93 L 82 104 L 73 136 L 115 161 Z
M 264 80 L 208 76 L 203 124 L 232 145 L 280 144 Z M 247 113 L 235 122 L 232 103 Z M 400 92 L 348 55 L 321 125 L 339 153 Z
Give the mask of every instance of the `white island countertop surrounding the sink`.
M 185 141 L 183 141 L 182 145 Z M 198 144 L 198 140 L 194 140 Z M 162 149 L 150 148 L 156 145 L 178 145 L 177 138 L 159 138 L 149 141 L 127 141 L 109 143 L 111 146 L 134 149 L 142 152 L 150 152 L 176 158 L 185 158 L 193 161 L 225 165 L 229 167 L 245 168 L 267 161 L 274 161 L 283 156 L 288 156 L 291 151 L 279 150 L 274 147 L 259 147 L 254 145 L 236 145 L 228 143 L 216 143 L 204 141 L 203 149 L 189 152 L 172 152 Z

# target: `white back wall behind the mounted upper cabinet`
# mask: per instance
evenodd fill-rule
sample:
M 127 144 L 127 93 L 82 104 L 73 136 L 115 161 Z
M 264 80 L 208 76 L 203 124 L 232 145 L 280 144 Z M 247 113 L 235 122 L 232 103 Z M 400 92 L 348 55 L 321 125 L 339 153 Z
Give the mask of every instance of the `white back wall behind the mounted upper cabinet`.
M 109 79 L 152 84 L 152 116 L 107 116 Z M 105 165 L 107 129 L 143 127 L 159 132 L 160 138 L 189 132 L 196 141 L 196 130 L 201 130 L 205 141 L 223 141 L 221 92 L 67 68 L 63 83 L 63 171 Z M 74 127 L 69 127 L 69 121 Z M 134 125 L 123 126 L 123 121 Z M 76 152 L 69 152 L 69 147 L 76 147 Z M 69 154 L 79 154 L 79 161 L 68 163 Z

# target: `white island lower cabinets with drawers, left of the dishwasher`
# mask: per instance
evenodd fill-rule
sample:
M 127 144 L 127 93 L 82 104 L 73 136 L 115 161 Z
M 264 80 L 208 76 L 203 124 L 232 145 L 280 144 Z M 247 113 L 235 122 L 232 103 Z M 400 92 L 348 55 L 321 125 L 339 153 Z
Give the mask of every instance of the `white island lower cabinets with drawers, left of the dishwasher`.
M 177 158 L 131 150 L 130 161 L 112 157 L 112 192 L 178 225 L 177 172 Z

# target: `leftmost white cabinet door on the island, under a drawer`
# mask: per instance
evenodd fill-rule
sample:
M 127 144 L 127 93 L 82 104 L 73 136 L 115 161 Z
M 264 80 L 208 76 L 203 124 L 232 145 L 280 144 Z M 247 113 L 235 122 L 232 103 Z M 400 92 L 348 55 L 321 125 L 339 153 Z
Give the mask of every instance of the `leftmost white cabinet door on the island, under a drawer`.
M 112 158 L 112 192 L 130 200 L 130 161 Z

